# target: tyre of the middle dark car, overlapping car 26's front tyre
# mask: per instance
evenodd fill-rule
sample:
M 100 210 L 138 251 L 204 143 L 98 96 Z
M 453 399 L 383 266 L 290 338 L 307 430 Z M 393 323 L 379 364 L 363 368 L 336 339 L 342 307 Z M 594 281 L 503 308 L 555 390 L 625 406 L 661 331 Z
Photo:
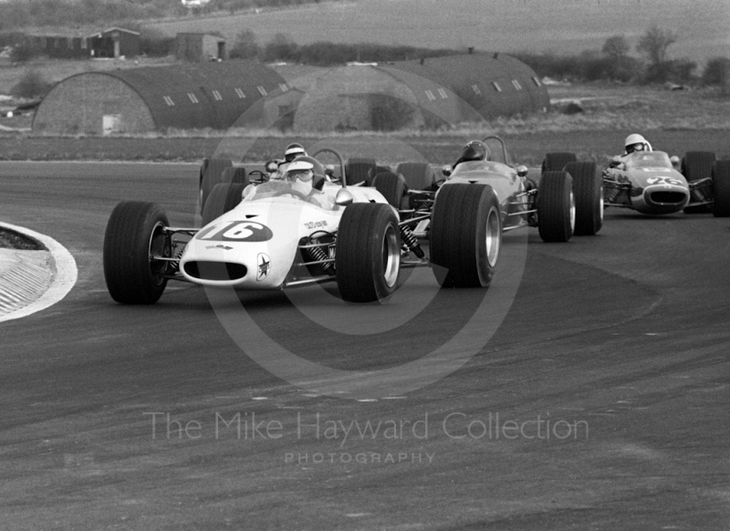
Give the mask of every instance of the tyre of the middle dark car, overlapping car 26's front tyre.
M 537 228 L 543 242 L 568 242 L 576 226 L 573 179 L 568 172 L 545 172 L 537 189 Z

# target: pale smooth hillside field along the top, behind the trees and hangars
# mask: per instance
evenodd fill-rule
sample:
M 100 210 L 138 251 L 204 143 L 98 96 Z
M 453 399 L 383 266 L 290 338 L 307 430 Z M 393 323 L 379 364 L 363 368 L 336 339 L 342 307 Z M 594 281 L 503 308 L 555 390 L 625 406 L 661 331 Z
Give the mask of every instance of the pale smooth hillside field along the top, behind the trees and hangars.
M 303 6 L 296 14 L 287 9 L 149 26 L 169 36 L 218 31 L 231 41 L 252 30 L 262 44 L 283 33 L 298 44 L 377 42 L 576 54 L 600 50 L 614 35 L 635 45 L 652 24 L 679 35 L 670 47 L 672 57 L 701 65 L 709 57 L 730 57 L 728 0 L 356 0 Z

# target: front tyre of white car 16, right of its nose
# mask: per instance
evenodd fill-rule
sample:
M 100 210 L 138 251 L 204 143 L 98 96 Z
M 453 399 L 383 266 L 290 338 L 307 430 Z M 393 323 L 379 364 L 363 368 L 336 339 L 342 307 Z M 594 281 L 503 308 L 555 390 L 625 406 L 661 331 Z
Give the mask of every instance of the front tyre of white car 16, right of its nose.
M 342 213 L 335 269 L 347 302 L 385 303 L 401 270 L 398 215 L 385 203 L 352 203 Z

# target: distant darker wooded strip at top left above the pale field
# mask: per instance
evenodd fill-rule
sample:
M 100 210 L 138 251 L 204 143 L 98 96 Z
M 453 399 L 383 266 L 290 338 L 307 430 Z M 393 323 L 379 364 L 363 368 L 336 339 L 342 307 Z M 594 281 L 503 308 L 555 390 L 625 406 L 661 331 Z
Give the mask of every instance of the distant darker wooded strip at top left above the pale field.
M 234 14 L 263 7 L 316 4 L 320 0 L 211 0 L 187 7 L 180 0 L 5 0 L 0 2 L 0 31 L 30 26 L 120 25 L 130 20 L 169 16 Z M 331 1 L 331 0 L 330 0 Z

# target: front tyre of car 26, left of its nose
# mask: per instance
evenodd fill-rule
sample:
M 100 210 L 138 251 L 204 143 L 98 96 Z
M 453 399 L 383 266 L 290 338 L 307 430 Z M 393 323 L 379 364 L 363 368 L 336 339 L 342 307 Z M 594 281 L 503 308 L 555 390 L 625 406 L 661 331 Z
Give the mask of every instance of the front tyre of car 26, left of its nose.
M 577 236 L 592 236 L 603 226 L 603 175 L 595 162 L 568 162 L 565 172 L 573 178 Z

